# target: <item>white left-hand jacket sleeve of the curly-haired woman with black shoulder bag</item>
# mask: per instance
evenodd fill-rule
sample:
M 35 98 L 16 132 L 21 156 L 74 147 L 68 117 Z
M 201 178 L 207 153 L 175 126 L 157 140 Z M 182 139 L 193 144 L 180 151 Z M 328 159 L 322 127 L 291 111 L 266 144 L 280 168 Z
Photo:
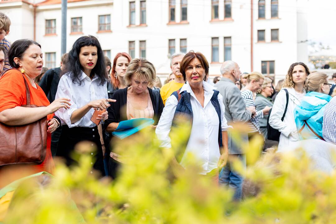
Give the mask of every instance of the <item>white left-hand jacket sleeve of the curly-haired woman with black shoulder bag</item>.
M 285 112 L 286 100 L 286 92 L 280 91 L 275 98 L 271 114 L 269 115 L 269 125 L 288 137 L 292 131 L 292 125 L 281 121 Z

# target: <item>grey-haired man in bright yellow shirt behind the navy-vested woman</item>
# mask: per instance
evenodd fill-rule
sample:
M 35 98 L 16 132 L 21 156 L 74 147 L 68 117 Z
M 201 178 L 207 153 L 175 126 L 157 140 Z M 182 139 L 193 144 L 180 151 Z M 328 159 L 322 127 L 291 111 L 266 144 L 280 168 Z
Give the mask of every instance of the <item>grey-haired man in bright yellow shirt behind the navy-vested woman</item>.
M 182 73 L 180 73 L 180 63 L 184 55 L 184 53 L 175 53 L 171 56 L 170 68 L 175 76 L 175 80 L 161 87 L 160 94 L 163 104 L 166 104 L 168 97 L 176 90 L 179 90 L 184 84 Z

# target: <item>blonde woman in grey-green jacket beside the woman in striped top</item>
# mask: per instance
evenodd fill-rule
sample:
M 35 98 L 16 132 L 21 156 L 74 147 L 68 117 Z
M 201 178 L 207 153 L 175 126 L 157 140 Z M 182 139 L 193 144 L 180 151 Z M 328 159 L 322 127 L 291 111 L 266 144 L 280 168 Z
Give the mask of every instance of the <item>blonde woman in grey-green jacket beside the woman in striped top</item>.
M 272 107 L 273 100 L 270 96 L 273 94 L 273 88 L 270 78 L 265 77 L 261 89 L 258 92 L 255 98 L 256 110 L 262 110 L 266 106 Z M 264 136 L 264 139 L 267 138 L 267 118 L 268 115 L 264 115 L 262 119 L 259 119 L 260 132 Z

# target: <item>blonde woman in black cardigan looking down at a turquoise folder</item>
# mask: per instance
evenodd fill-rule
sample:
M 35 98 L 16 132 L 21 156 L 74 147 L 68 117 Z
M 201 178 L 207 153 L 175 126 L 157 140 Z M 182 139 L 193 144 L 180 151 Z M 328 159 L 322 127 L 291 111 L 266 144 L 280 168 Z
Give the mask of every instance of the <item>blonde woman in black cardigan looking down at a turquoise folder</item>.
M 119 122 L 133 118 L 152 118 L 157 125 L 164 105 L 160 92 L 148 87 L 156 82 L 154 65 L 144 58 L 135 58 L 129 63 L 124 80 L 129 87 L 114 92 L 112 98 L 117 102 L 107 109 L 109 118 L 105 121 L 105 130 L 113 132 Z M 111 152 L 111 156 L 109 175 L 115 178 L 118 163 L 116 154 Z

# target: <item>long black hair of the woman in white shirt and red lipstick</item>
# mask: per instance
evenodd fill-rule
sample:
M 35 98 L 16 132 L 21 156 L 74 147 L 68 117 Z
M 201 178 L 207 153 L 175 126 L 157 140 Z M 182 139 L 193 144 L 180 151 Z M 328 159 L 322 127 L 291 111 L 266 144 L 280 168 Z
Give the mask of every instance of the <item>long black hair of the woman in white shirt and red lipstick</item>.
M 82 85 L 82 80 L 80 77 L 82 76 L 83 68 L 79 62 L 79 53 L 81 48 L 85 46 L 97 47 L 97 63 L 91 70 L 91 74 L 98 76 L 98 85 L 102 86 L 109 78 L 106 72 L 104 53 L 101 50 L 100 43 L 97 38 L 91 35 L 80 37 L 75 41 L 72 49 L 68 54 L 68 60 L 65 64 L 64 70 L 62 70 L 61 76 L 69 73 L 69 77 L 72 79 L 74 84 L 77 83 Z

